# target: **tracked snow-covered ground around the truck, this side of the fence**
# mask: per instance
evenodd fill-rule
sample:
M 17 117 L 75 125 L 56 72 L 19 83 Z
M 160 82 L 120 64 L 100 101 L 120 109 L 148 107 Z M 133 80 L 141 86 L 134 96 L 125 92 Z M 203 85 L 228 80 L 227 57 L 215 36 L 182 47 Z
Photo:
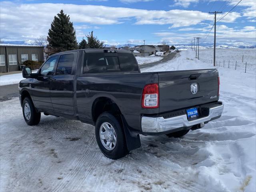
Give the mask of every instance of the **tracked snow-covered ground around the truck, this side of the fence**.
M 192 50 L 147 71 L 212 68 Z M 183 138 L 141 136 L 120 160 L 94 126 L 44 116 L 27 126 L 18 98 L 0 102 L 0 191 L 256 191 L 256 77 L 217 67 L 222 117 Z

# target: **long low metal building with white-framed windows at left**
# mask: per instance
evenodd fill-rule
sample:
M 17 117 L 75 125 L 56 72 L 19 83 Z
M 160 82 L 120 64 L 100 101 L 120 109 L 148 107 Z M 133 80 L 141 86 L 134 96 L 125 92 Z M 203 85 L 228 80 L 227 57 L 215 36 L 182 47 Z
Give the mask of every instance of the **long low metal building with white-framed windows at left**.
M 44 62 L 44 47 L 0 44 L 0 72 L 18 71 L 26 60 Z

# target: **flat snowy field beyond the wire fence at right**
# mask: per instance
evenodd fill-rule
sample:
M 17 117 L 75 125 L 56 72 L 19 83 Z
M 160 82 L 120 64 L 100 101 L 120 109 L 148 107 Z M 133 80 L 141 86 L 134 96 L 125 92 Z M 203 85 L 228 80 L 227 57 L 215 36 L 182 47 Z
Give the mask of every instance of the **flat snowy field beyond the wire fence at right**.
M 209 60 L 213 62 L 213 49 L 202 49 L 199 52 L 200 60 Z M 253 49 L 216 49 L 216 64 L 228 68 L 228 61 L 230 61 L 230 68 L 245 71 L 249 73 L 256 73 L 256 48 Z

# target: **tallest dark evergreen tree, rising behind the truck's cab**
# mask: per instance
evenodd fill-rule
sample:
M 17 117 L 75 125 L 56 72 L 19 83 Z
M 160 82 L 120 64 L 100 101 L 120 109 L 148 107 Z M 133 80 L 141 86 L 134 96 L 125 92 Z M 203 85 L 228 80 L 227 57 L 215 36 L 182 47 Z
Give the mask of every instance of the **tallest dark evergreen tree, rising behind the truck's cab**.
M 47 40 L 50 54 L 77 48 L 76 31 L 69 15 L 64 14 L 63 10 L 54 16 Z

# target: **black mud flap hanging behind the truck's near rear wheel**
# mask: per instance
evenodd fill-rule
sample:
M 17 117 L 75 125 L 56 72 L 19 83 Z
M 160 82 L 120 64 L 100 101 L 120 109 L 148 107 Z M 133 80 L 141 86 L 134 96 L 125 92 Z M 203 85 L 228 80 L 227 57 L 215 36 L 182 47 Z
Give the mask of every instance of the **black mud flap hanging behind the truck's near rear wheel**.
M 140 148 L 140 146 L 141 146 L 140 135 L 139 134 L 131 135 L 124 116 L 121 115 L 121 118 L 122 118 L 122 124 L 123 124 L 123 128 L 124 128 L 124 134 L 125 134 L 125 138 L 126 138 L 126 146 L 127 146 L 128 151 L 134 150 L 136 148 Z

